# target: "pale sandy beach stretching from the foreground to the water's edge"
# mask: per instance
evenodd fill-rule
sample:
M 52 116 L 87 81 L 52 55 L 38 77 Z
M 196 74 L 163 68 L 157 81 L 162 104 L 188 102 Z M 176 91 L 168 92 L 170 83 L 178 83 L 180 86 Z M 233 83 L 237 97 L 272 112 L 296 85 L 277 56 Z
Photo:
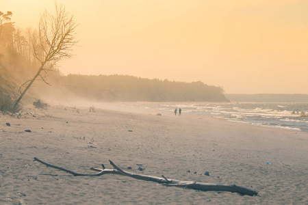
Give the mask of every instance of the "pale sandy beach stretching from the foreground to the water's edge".
M 0 115 L 0 204 L 308 204 L 308 133 L 154 111 L 57 106 L 27 112 L 21 119 Z M 111 174 L 72 176 L 34 156 L 89 174 L 101 163 L 111 169 L 110 159 L 129 172 L 236 184 L 259 195 L 165 187 Z

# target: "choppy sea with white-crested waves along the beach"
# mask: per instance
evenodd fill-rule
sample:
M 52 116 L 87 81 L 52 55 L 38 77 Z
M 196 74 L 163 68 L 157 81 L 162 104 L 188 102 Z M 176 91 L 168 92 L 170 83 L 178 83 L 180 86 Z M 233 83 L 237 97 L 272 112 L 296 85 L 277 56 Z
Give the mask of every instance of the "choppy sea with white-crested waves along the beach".
M 300 102 L 168 102 L 138 103 L 133 107 L 227 119 L 233 122 L 308 132 L 308 103 Z

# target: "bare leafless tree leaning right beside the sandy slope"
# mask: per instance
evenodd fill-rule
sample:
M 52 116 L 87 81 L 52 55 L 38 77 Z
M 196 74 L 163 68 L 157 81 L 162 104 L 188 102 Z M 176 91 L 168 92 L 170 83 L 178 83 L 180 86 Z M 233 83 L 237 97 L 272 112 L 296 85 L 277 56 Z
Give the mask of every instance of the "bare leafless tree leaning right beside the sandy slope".
M 45 77 L 53 70 L 55 64 L 61 59 L 72 57 L 71 48 L 77 43 L 76 27 L 73 15 L 66 12 L 63 5 L 57 3 L 55 3 L 55 14 L 45 10 L 40 16 L 38 32 L 34 34 L 31 42 L 34 57 L 39 61 L 40 67 L 33 79 L 21 86 L 26 87 L 23 91 L 20 89 L 21 96 L 16 100 L 13 112 L 18 109 L 19 102 L 38 77 L 47 83 Z

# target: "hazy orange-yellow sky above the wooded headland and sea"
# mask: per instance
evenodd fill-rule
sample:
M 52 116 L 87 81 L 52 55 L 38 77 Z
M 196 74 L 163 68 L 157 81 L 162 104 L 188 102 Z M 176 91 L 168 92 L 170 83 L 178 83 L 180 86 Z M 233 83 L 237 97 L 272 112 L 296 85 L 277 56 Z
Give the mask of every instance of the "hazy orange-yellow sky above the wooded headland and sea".
M 308 94 L 308 1 L 58 0 L 79 24 L 64 74 L 203 81 L 228 94 Z M 54 1 L 0 0 L 21 28 Z

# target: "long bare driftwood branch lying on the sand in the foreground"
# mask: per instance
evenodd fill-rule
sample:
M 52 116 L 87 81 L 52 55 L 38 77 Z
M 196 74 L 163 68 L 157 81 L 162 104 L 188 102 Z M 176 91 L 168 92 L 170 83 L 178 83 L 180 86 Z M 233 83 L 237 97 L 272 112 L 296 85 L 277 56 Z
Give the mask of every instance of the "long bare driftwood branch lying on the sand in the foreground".
M 101 176 L 103 174 L 120 174 L 123 176 L 129 176 L 131 178 L 136 178 L 138 180 L 157 182 L 159 184 L 163 184 L 165 186 L 170 186 L 170 187 L 182 187 L 185 189 L 195 189 L 199 191 L 229 191 L 229 192 L 235 192 L 235 193 L 240 193 L 242 195 L 250 195 L 250 196 L 254 196 L 258 194 L 257 191 L 253 191 L 251 189 L 247 189 L 245 187 L 239 187 L 236 185 L 208 184 L 208 183 L 194 182 L 194 181 L 173 180 L 173 179 L 166 178 L 164 175 L 162 175 L 162 177 L 157 177 L 157 176 L 147 176 L 143 174 L 133 174 L 131 172 L 126 172 L 123 169 L 120 169 L 120 167 L 115 165 L 112 161 L 110 161 L 110 164 L 112 165 L 112 167 L 114 167 L 114 169 L 105 169 L 104 165 L 102 165 L 103 169 L 90 168 L 94 171 L 97 171 L 98 172 L 97 174 L 79 174 L 79 173 L 70 171 L 68 169 L 64 169 L 62 167 L 51 165 L 49 163 L 41 161 L 40 159 L 36 157 L 34 157 L 34 161 L 38 161 L 39 163 L 47 165 L 47 167 L 52 167 L 54 169 L 59 169 L 61 171 L 67 172 L 69 174 L 73 174 L 73 176 Z

